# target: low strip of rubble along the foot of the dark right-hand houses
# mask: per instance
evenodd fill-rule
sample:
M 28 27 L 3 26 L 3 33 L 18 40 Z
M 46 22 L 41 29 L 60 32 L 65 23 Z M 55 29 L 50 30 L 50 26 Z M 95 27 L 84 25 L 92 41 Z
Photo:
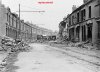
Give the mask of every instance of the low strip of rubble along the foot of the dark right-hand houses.
M 86 41 L 86 42 L 71 42 L 71 41 L 56 41 L 57 44 L 66 44 L 68 47 L 77 47 L 77 48 L 84 48 L 87 50 L 99 50 L 100 45 L 97 44 L 93 45 L 93 43 Z

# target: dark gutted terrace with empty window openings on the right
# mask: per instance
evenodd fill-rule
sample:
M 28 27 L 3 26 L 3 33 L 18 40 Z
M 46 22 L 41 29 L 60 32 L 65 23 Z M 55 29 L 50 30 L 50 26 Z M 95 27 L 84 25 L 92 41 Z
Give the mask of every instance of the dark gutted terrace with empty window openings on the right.
M 73 5 L 72 13 L 59 24 L 61 35 L 70 41 L 93 44 L 100 41 L 100 0 L 83 0 L 79 7 Z

